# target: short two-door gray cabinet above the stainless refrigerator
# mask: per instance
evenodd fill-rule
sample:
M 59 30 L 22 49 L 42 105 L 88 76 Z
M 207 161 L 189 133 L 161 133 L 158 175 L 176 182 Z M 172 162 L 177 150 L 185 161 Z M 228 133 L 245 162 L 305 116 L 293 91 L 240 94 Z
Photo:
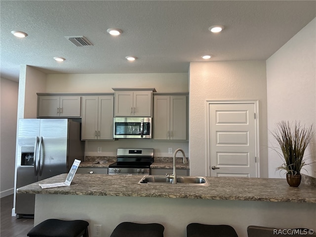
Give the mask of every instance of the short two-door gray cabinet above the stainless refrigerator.
M 80 118 L 80 96 L 38 96 L 38 118 Z

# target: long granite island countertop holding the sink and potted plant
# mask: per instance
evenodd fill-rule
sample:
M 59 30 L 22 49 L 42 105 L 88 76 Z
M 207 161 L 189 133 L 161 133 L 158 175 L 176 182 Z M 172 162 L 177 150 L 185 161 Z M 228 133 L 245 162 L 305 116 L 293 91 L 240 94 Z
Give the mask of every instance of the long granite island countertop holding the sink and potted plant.
M 66 176 L 60 174 L 21 187 L 17 193 L 316 203 L 315 187 L 301 184 L 293 188 L 285 179 L 206 177 L 209 186 L 188 186 L 138 184 L 143 175 L 76 174 L 68 187 L 41 189 L 39 186 L 39 183 L 64 182 Z

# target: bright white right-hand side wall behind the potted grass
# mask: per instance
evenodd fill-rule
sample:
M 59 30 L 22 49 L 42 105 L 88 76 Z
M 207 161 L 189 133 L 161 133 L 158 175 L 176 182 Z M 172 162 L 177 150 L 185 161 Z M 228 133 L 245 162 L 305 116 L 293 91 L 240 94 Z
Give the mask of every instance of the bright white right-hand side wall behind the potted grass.
M 314 124 L 316 131 L 316 18 L 267 60 L 267 95 L 269 131 L 281 120 Z M 273 146 L 270 132 L 268 138 Z M 316 135 L 305 154 L 309 153 L 313 154 L 311 162 L 316 159 Z M 269 177 L 280 177 L 276 167 L 281 164 L 281 158 L 269 149 Z M 308 173 L 302 173 L 316 177 L 315 164 L 305 168 Z

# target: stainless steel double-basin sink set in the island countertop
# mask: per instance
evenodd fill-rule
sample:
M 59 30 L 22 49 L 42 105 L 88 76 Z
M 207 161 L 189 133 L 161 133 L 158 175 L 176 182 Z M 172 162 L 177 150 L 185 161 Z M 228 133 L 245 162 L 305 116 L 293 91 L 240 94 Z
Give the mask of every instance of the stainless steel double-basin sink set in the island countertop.
M 164 175 L 145 175 L 138 183 L 139 184 L 172 184 L 172 178 L 167 178 Z M 209 183 L 205 177 L 178 176 L 176 185 L 208 186 Z

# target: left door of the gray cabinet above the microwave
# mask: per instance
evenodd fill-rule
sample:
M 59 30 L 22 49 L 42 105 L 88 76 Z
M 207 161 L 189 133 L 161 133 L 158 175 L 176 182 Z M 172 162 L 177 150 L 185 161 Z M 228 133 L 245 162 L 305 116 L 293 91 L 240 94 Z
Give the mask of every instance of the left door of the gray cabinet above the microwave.
M 133 91 L 115 92 L 115 116 L 133 116 Z

